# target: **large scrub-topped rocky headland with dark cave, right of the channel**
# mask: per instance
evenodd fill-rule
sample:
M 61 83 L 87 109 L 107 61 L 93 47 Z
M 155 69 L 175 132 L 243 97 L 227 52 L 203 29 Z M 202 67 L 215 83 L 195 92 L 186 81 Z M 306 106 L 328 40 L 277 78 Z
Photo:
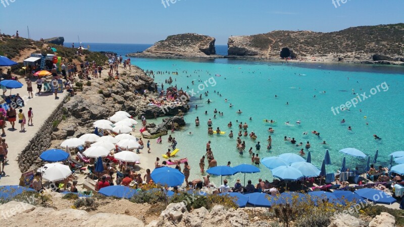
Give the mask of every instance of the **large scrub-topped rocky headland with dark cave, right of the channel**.
M 336 32 L 272 31 L 231 36 L 229 58 L 404 62 L 404 24 L 351 27 Z M 373 55 L 382 56 L 373 58 Z

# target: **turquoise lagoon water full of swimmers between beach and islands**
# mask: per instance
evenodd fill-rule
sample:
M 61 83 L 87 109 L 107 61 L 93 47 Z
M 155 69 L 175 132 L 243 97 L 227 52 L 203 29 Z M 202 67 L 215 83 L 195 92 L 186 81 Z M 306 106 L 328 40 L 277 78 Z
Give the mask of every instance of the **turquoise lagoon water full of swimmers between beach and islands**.
M 235 166 L 240 163 L 251 163 L 248 154 L 249 147 L 253 147 L 256 152 L 255 144 L 260 141 L 262 144 L 260 157 L 275 156 L 282 153 L 292 152 L 298 154 L 300 147 L 296 147 L 285 142 L 284 136 L 294 137 L 297 142 L 306 144 L 310 141 L 312 163 L 320 167 L 328 148 L 331 155 L 332 164 L 328 165 L 327 172 L 336 171 L 341 165 L 343 154 L 338 152 L 346 147 L 355 147 L 362 150 L 365 154 L 373 156 L 379 149 L 379 158 L 377 165 L 387 165 L 388 154 L 404 149 L 402 136 L 404 127 L 402 124 L 404 104 L 404 95 L 401 92 L 404 89 L 404 70 L 397 67 L 371 67 L 371 66 L 349 66 L 349 65 L 319 65 L 319 64 L 273 64 L 263 62 L 231 61 L 221 60 L 153 60 L 153 59 L 135 59 L 132 64 L 139 66 L 144 70 L 154 71 L 178 71 L 178 75 L 165 74 L 155 75 L 155 80 L 159 84 L 164 83 L 165 79 L 172 76 L 173 85 L 178 88 L 194 89 L 199 91 L 198 79 L 208 81 L 200 93 L 209 91 L 209 96 L 203 95 L 199 99 L 199 93 L 191 99 L 191 110 L 185 116 L 187 126 L 182 131 L 172 133 L 178 141 L 177 147 L 180 148 L 179 157 L 187 157 L 191 165 L 190 179 L 200 178 L 199 159 L 205 154 L 206 143 L 212 141 L 212 150 L 218 165 L 226 165 L 231 161 Z M 334 70 L 329 70 L 334 69 Z M 336 70 L 335 70 L 336 69 Z M 200 70 L 194 72 L 195 70 Z M 355 71 L 356 70 L 356 71 Z M 186 72 L 185 72 L 186 71 Z M 215 76 L 220 74 L 220 77 Z M 304 74 L 304 75 L 298 75 Z M 186 77 L 189 76 L 190 77 Z M 349 78 L 349 80 L 347 79 Z M 191 81 L 195 80 L 195 85 Z M 214 82 L 216 83 L 213 83 Z M 344 104 L 346 101 L 356 97 L 355 92 L 366 92 L 368 96 L 372 88 L 386 82 L 386 86 L 380 88 L 380 92 L 372 95 L 357 104 L 357 107 L 350 107 L 349 111 L 340 111 L 334 116 L 331 107 Z M 215 86 L 213 86 L 215 85 Z M 165 88 L 168 85 L 165 84 Z M 202 88 L 203 86 L 199 86 Z M 362 90 L 361 90 L 362 89 Z M 220 97 L 214 91 L 222 94 Z M 326 93 L 322 93 L 326 91 Z M 374 90 L 372 90 L 374 93 Z M 190 93 L 190 92 L 189 92 Z M 278 97 L 275 98 L 275 95 Z M 316 95 L 316 97 L 314 97 Z M 206 103 L 210 98 L 213 102 Z M 225 102 L 225 98 L 228 102 Z M 286 105 L 286 102 L 289 104 Z M 229 107 L 232 103 L 234 106 Z M 198 106 L 195 109 L 195 105 Z M 223 111 L 224 116 L 217 115 L 214 119 L 214 109 Z M 242 110 L 241 115 L 237 114 L 238 109 Z M 362 110 L 362 112 L 360 111 Z M 205 115 L 205 111 L 208 115 Z M 366 116 L 366 119 L 364 118 Z M 195 127 L 195 118 L 199 117 L 200 126 Z M 252 118 L 250 121 L 249 118 Z M 207 121 L 212 119 L 213 127 L 220 127 L 226 131 L 226 135 L 208 135 Z M 273 119 L 276 124 L 263 123 L 263 119 Z M 346 123 L 341 124 L 342 119 Z M 241 139 L 246 143 L 246 151 L 240 156 L 236 150 L 236 137 L 239 122 L 247 122 L 248 133 L 254 131 L 258 138 L 256 141 L 249 137 Z M 300 125 L 295 122 L 301 121 Z M 233 123 L 233 128 L 229 129 L 227 124 Z M 292 126 L 284 123 L 289 121 Z M 368 123 L 368 125 L 366 124 Z M 352 130 L 347 130 L 351 126 Z M 270 134 L 268 128 L 273 127 L 275 133 Z M 235 137 L 230 139 L 228 133 L 233 130 Z M 320 138 L 311 133 L 316 130 L 320 132 Z M 192 132 L 192 135 L 188 135 Z M 308 135 L 303 135 L 308 132 Z M 381 141 L 374 140 L 373 134 L 382 138 Z M 267 138 L 272 137 L 272 149 L 266 150 Z M 323 140 L 329 144 L 324 147 L 320 144 Z M 164 143 L 163 143 L 164 144 Z M 163 154 L 166 149 L 164 146 L 155 146 Z M 160 156 L 160 155 L 158 155 Z M 307 157 L 307 151 L 306 155 Z M 363 170 L 366 160 L 357 158 L 347 158 L 347 166 L 354 168 L 359 165 Z M 269 169 L 260 166 L 261 173 L 247 175 L 247 179 L 253 182 L 258 178 L 272 180 Z M 229 178 L 234 183 L 237 178 L 242 178 L 239 174 Z M 220 177 L 211 178 L 216 184 L 219 184 Z

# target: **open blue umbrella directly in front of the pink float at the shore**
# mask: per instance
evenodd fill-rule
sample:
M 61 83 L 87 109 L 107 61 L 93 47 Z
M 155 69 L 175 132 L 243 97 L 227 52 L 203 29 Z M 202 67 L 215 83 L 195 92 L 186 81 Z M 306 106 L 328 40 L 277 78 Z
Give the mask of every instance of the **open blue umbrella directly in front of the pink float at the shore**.
M 167 166 L 155 168 L 150 176 L 155 183 L 167 185 L 168 187 L 181 185 L 185 179 L 185 176 L 178 169 Z

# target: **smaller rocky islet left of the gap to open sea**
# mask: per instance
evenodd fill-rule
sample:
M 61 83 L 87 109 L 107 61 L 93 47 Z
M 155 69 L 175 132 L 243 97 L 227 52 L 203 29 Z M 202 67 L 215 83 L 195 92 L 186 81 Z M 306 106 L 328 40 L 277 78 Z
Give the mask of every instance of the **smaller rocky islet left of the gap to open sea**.
M 218 58 L 215 38 L 195 33 L 170 35 L 165 40 L 156 42 L 143 52 L 129 53 L 127 56 L 139 58 Z

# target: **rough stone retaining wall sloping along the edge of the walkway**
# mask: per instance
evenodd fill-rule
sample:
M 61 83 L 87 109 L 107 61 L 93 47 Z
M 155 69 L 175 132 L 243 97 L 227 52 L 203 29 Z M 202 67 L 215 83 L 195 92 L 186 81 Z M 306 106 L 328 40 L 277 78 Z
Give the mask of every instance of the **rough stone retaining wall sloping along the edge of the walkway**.
M 46 150 L 51 144 L 51 136 L 53 132 L 54 121 L 62 121 L 63 105 L 70 99 L 66 96 L 56 109 L 52 112 L 35 136 L 28 142 L 28 145 L 18 155 L 17 161 L 21 173 L 28 171 L 32 164 L 37 162 L 42 151 Z

